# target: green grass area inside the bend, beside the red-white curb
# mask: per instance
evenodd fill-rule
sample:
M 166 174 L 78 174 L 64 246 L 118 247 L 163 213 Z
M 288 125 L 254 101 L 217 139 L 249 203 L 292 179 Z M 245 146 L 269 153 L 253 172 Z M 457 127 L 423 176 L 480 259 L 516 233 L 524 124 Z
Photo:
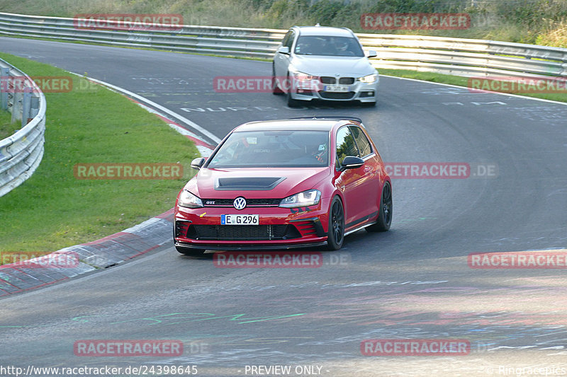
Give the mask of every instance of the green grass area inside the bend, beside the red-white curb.
M 186 137 L 128 98 L 46 64 L 1 54 L 30 76 L 72 76 L 69 93 L 45 93 L 43 161 L 0 197 L 0 253 L 58 250 L 171 209 L 198 152 Z M 77 163 L 177 163 L 180 180 L 77 180 Z

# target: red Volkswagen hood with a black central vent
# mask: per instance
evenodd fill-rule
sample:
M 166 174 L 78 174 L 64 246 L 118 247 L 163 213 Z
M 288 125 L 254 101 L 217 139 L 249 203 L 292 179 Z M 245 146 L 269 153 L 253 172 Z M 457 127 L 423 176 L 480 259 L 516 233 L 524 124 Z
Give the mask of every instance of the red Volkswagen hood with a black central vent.
M 318 187 L 330 175 L 324 168 L 228 168 L 199 170 L 185 189 L 203 199 L 234 199 L 240 195 L 279 199 Z

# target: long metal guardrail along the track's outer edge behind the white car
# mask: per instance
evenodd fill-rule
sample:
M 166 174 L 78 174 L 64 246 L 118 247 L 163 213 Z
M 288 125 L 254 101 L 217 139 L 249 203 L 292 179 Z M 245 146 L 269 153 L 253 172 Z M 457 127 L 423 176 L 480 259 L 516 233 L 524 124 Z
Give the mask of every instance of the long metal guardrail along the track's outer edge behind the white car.
M 172 30 L 82 30 L 73 18 L 0 13 L 0 33 L 149 47 L 234 57 L 271 58 L 286 30 L 174 25 Z M 492 40 L 357 34 L 380 69 L 459 76 L 567 76 L 567 49 Z

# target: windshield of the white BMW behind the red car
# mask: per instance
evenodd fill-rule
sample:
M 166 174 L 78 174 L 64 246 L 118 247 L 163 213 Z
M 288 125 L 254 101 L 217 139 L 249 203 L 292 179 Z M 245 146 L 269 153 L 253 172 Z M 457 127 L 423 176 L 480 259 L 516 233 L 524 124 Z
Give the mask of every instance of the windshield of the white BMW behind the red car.
M 352 37 L 303 35 L 298 37 L 295 53 L 334 57 L 364 57 L 360 44 Z

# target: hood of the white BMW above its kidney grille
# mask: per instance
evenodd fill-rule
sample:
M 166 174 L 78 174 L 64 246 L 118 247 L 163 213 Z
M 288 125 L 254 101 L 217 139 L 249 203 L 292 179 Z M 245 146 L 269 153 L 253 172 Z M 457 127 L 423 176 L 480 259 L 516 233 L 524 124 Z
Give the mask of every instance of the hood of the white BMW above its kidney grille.
M 366 57 L 320 57 L 313 55 L 294 55 L 291 66 L 298 71 L 313 76 L 366 76 L 375 74 L 376 69 Z

